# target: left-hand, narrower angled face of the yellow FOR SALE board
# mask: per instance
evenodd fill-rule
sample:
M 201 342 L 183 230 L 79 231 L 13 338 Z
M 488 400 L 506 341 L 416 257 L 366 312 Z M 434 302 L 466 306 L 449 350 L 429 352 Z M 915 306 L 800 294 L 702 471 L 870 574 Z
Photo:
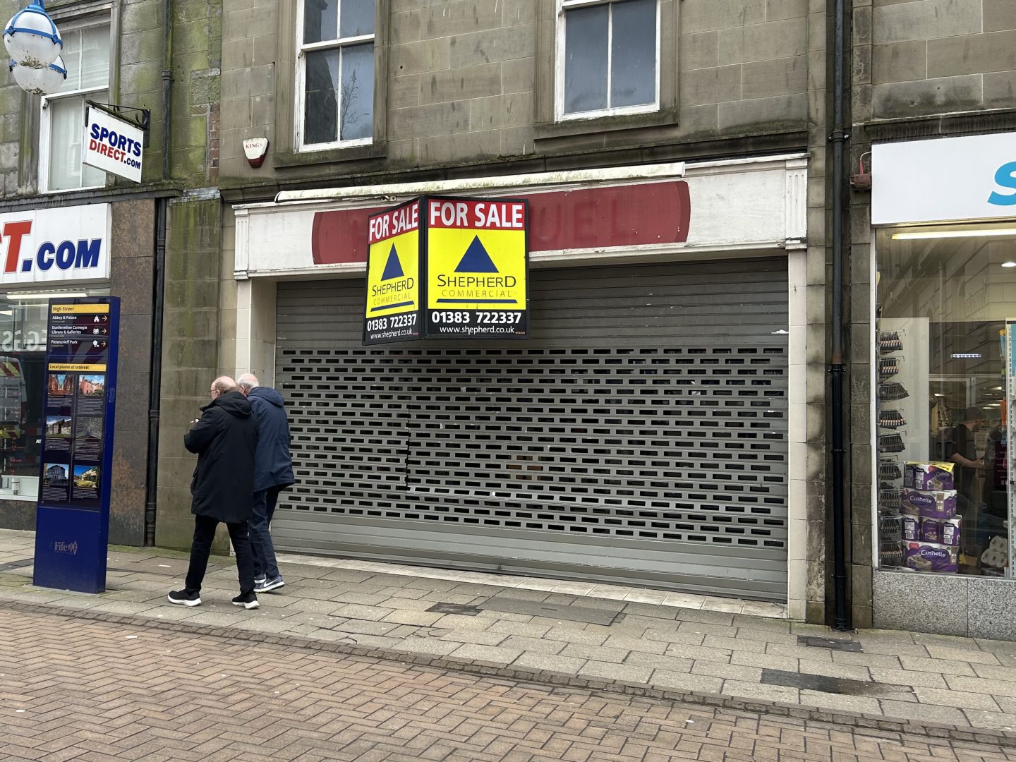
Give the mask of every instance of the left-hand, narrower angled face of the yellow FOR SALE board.
M 364 343 L 420 338 L 420 200 L 370 217 Z

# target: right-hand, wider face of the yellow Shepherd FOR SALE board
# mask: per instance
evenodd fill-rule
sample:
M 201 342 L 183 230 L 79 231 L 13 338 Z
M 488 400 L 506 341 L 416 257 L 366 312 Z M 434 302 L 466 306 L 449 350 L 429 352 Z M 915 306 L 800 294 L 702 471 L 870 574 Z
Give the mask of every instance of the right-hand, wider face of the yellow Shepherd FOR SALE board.
M 526 201 L 428 197 L 424 208 L 425 335 L 525 338 Z

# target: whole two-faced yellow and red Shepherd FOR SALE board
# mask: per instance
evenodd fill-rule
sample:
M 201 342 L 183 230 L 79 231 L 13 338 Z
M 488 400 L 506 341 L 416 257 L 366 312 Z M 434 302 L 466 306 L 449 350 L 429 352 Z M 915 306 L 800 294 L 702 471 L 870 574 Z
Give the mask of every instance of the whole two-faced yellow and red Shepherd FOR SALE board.
M 525 338 L 528 203 L 425 196 L 369 219 L 364 343 Z

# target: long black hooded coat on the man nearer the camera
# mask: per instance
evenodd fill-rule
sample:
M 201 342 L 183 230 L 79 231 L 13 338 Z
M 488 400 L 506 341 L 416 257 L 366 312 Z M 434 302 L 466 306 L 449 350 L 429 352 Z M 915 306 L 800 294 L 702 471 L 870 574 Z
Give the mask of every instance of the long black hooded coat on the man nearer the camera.
M 229 391 L 201 411 L 201 419 L 184 435 L 184 447 L 198 456 L 191 513 L 228 523 L 249 521 L 257 449 L 250 402 L 239 391 Z

